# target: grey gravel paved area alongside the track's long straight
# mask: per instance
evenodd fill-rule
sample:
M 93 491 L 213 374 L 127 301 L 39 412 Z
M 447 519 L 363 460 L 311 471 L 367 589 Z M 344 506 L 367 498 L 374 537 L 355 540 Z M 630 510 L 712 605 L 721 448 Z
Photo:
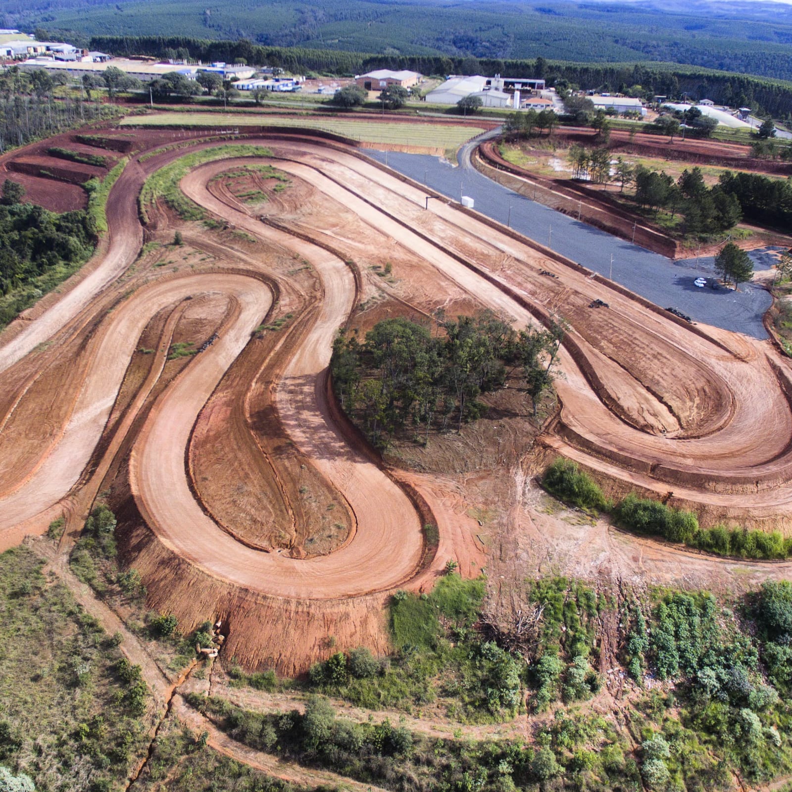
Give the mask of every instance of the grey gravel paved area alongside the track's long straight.
M 476 211 L 499 223 L 509 223 L 520 234 L 611 277 L 662 308 L 676 308 L 695 322 L 767 338 L 762 324 L 762 316 L 772 302 L 767 290 L 754 284 L 741 284 L 740 291 L 712 289 L 714 260 L 711 257 L 698 262 L 672 261 L 536 203 L 466 167 L 470 147 L 469 143 L 460 152 L 462 164 L 456 166 L 428 154 L 376 150 L 367 154 L 453 200 L 470 196 Z M 767 249 L 751 256 L 757 270 L 770 268 L 772 258 Z M 694 285 L 699 277 L 707 279 L 706 287 Z

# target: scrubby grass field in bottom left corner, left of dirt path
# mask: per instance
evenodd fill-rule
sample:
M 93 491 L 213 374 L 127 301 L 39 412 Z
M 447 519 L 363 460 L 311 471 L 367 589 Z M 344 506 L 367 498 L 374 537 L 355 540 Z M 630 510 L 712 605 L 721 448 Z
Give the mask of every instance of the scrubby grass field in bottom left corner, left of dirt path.
M 0 555 L 0 764 L 40 792 L 120 788 L 147 746 L 147 687 L 42 565 Z

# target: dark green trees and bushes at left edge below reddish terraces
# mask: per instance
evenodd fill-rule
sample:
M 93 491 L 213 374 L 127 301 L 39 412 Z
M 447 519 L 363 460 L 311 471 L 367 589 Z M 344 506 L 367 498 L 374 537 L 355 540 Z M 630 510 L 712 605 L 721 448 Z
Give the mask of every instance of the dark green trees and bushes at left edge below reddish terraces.
M 77 272 L 97 242 L 94 212 L 59 215 L 24 198 L 25 189 L 6 179 L 0 199 L 0 329 Z

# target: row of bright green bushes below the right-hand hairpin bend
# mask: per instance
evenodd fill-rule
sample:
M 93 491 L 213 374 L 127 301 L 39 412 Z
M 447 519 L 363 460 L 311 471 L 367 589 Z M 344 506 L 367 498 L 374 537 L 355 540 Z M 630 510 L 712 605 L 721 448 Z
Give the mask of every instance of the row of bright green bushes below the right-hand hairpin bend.
M 611 512 L 616 524 L 637 534 L 657 536 L 696 550 L 735 558 L 792 556 L 792 537 L 785 539 L 778 531 L 753 531 L 723 525 L 702 528 L 693 512 L 634 494 L 614 504 L 607 500 L 591 476 L 567 459 L 556 459 L 545 471 L 542 484 L 551 495 L 584 511 Z

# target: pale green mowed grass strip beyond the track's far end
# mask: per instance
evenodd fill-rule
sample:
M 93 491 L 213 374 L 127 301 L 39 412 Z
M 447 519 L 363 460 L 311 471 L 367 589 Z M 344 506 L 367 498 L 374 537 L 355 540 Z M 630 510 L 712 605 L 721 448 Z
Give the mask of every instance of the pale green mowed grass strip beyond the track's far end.
M 272 118 L 253 113 L 163 112 L 156 116 L 125 118 L 124 126 L 146 127 L 303 127 L 321 129 L 363 143 L 398 143 L 406 146 L 454 148 L 484 130 L 465 124 L 409 124 L 405 121 L 367 121 L 346 118 Z

